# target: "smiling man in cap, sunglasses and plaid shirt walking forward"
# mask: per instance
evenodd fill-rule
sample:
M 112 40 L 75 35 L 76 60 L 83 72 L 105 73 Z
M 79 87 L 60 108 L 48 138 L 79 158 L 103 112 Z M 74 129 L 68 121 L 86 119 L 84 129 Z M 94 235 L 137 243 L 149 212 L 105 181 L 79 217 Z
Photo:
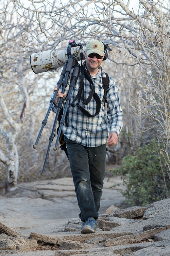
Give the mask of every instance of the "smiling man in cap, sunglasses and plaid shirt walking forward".
M 102 102 L 104 96 L 102 77 L 106 77 L 105 72 L 100 66 L 105 56 L 103 43 L 98 40 L 89 41 L 86 45 L 84 56 L 86 60 L 84 67 L 89 72 L 89 76 L 91 76 L 91 80 L 95 85 L 95 91 Z M 99 114 L 94 116 L 96 101 L 93 98 L 87 105 L 80 102 L 80 105 L 92 117 L 82 113 L 77 106 L 71 106 L 72 101 L 78 94 L 80 81 L 81 74 L 73 89 L 72 99 L 68 107 L 68 126 L 63 126 L 63 133 L 67 144 L 75 193 L 81 212 L 81 233 L 93 233 L 98 227 L 96 220 L 98 218 L 105 176 L 106 145 L 113 146 L 117 143 L 122 128 L 122 110 L 118 89 L 112 77 L 109 77 L 107 116 L 104 110 L 104 102 L 101 103 Z M 52 109 L 54 112 L 56 111 L 59 99 L 66 97 L 68 87 L 64 94 L 58 91 L 55 106 L 53 105 Z M 57 87 L 54 90 L 57 90 Z M 90 82 L 84 77 L 85 99 L 89 96 L 90 90 Z M 109 129 L 110 132 L 108 132 Z

